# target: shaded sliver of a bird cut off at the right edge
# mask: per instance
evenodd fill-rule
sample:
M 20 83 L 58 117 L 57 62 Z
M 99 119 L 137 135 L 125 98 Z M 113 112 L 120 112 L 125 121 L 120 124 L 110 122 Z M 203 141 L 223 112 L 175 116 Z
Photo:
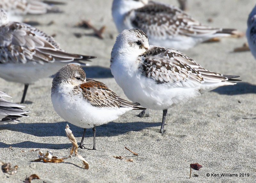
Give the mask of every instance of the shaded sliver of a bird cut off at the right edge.
M 246 37 L 252 55 L 256 59 L 256 5 L 252 9 L 247 20 Z

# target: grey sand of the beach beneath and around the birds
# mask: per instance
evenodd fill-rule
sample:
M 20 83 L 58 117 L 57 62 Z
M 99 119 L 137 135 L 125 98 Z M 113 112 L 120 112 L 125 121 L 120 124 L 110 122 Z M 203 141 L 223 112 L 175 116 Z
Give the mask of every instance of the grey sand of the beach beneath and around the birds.
M 62 0 L 64 1 L 64 0 Z M 87 77 L 107 84 L 125 98 L 109 69 L 110 52 L 118 35 L 111 17 L 112 1 L 72 0 L 59 5 L 62 14 L 26 16 L 42 25 L 37 28 L 52 35 L 61 47 L 74 53 L 97 56 L 91 67 L 85 68 Z M 161 0 L 177 5 L 175 0 Z M 237 28 L 245 32 L 247 17 L 253 0 L 189 0 L 188 13 L 212 27 Z M 207 22 L 211 18 L 212 22 Z M 91 20 L 96 28 L 106 25 L 103 40 L 92 36 L 92 30 L 75 27 L 80 20 Z M 53 20 L 52 25 L 47 25 Z M 74 34 L 82 34 L 80 38 Z M 200 44 L 186 51 L 204 68 L 222 74 L 240 75 L 243 81 L 229 87 L 207 92 L 168 110 L 165 134 L 159 133 L 162 111 L 150 110 L 151 116 L 139 118 L 138 111 L 130 111 L 116 121 L 97 127 L 97 151 L 92 130 L 84 140 L 89 149 L 79 154 L 90 164 L 89 170 L 73 157 L 65 163 L 30 162 L 37 158 L 39 148 L 54 155 L 69 154 L 71 143 L 65 135 L 65 122 L 51 103 L 52 78 L 41 79 L 28 88 L 26 110 L 28 118 L 21 118 L 0 126 L 0 160 L 18 165 L 14 175 L 0 171 L 0 182 L 22 182 L 26 176 L 37 174 L 41 179 L 32 182 L 254 182 L 256 179 L 256 61 L 251 52 L 232 52 L 242 46 L 246 38 L 223 38 L 219 43 Z M 23 84 L 0 79 L 0 90 L 20 102 Z M 78 142 L 83 129 L 69 123 Z M 133 156 L 124 147 L 138 153 Z M 12 147 L 12 148 L 9 148 Z M 24 152 L 23 152 L 24 151 Z M 113 156 L 123 156 L 124 160 Z M 133 162 L 126 161 L 132 158 Z M 189 164 L 199 163 L 200 171 L 192 171 Z M 206 174 L 210 173 L 210 177 Z M 212 173 L 238 174 L 238 177 L 212 177 Z M 239 177 L 249 173 L 249 177 Z M 194 176 L 198 175 L 198 177 Z

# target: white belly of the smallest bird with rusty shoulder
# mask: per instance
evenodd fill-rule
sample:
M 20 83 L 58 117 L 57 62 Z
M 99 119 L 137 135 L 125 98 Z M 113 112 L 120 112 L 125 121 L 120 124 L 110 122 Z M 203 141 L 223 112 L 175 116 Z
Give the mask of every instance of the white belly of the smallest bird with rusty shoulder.
M 72 96 L 64 93 L 52 94 L 52 104 L 64 120 L 81 128 L 93 128 L 117 119 L 132 108 L 102 108 L 94 107 L 82 96 Z

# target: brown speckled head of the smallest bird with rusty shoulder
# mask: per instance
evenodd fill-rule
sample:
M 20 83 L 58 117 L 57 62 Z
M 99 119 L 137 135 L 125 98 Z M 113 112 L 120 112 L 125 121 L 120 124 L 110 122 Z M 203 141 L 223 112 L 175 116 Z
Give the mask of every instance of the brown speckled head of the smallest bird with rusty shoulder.
M 76 64 L 68 64 L 61 68 L 52 81 L 54 84 L 71 84 L 74 86 L 83 84 L 86 81 L 84 70 Z

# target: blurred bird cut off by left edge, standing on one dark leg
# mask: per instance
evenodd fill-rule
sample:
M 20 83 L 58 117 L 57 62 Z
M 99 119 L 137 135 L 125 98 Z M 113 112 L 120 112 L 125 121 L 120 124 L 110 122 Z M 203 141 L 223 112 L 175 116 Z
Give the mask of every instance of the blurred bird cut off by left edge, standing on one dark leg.
M 43 31 L 28 24 L 9 22 L 0 9 L 0 77 L 25 84 L 21 103 L 24 103 L 28 85 L 55 74 L 69 62 L 96 58 L 67 53 Z

